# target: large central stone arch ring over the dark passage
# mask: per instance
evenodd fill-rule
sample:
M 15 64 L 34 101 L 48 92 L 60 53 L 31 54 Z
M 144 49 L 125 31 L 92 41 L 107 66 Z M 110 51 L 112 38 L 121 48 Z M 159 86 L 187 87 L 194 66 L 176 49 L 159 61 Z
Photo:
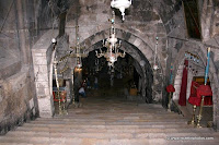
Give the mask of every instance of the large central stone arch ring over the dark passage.
M 85 47 L 84 51 L 89 52 L 94 49 L 97 49 L 99 48 L 97 46 L 102 47 L 102 40 L 105 39 L 106 37 L 108 37 L 107 31 L 108 29 L 101 31 L 101 32 L 93 34 L 90 37 L 87 37 L 85 39 L 83 39 L 83 41 L 81 44 L 82 44 L 82 46 Z M 107 34 L 107 35 L 105 35 L 105 34 Z M 145 40 L 142 40 L 141 38 L 137 37 L 136 35 L 134 35 L 129 32 L 125 32 L 125 31 L 118 29 L 118 28 L 116 28 L 116 36 L 118 39 L 122 39 L 124 44 L 126 44 L 126 47 L 130 46 L 130 45 L 132 46 L 132 47 L 129 47 L 129 49 L 124 49 L 122 47 L 122 50 L 125 50 L 126 52 L 128 52 L 132 58 L 135 58 L 137 60 L 138 63 L 140 63 L 141 60 L 147 62 L 143 67 L 141 67 L 141 70 L 143 70 L 145 85 L 147 87 L 149 87 L 149 84 L 153 84 L 153 76 L 155 76 L 155 80 L 163 81 L 161 75 L 154 75 L 152 72 L 151 65 L 153 64 L 153 53 L 154 53 L 153 51 L 154 50 Z M 134 47 L 137 49 L 134 50 Z M 159 64 L 160 64 L 160 62 L 159 62 Z M 163 70 L 161 70 L 161 71 L 163 71 Z M 152 75 L 149 75 L 149 74 L 152 74 Z M 147 95 L 153 94 L 152 87 L 147 88 L 145 90 Z M 154 90 L 154 92 L 158 93 L 159 90 Z M 160 92 L 159 94 L 161 96 L 162 93 Z M 150 98 L 149 102 L 151 102 L 152 95 L 149 98 Z

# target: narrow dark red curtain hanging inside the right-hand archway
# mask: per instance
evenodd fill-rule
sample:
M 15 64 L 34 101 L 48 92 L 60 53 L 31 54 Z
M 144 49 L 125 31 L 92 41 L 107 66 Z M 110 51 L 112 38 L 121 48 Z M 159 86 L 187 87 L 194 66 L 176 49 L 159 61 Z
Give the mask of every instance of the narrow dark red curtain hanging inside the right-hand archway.
M 181 84 L 181 93 L 180 93 L 180 99 L 178 99 L 178 105 L 181 106 L 186 106 L 186 88 L 187 88 L 187 74 L 188 74 L 187 64 L 188 64 L 188 60 L 185 60 L 183 76 L 182 76 L 182 84 Z

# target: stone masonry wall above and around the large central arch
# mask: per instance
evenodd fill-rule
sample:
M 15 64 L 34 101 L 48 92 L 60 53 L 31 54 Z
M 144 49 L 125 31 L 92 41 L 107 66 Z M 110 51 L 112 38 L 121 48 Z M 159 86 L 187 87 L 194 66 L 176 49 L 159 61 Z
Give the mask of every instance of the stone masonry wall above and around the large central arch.
M 108 37 L 107 29 L 111 27 L 108 19 L 112 17 L 112 11 L 110 1 L 102 0 L 79 0 L 77 4 L 72 5 L 67 14 L 66 25 L 66 33 L 69 35 L 70 46 L 76 45 L 76 21 L 78 21 L 80 40 L 85 43 L 88 51 L 93 50 L 92 45 Z M 117 36 L 122 40 L 124 39 L 136 46 L 147 56 L 146 58 L 151 65 L 153 63 L 152 53 L 154 53 L 155 37 L 159 37 L 158 61 L 162 72 L 165 73 L 163 70 L 165 70 L 166 64 L 166 34 L 157 9 L 153 8 L 150 1 L 137 0 L 126 11 L 125 22 L 122 22 L 119 11 L 115 10 L 115 13 Z M 161 81 L 160 78 L 158 80 Z M 150 81 L 148 83 L 151 85 L 153 82 Z M 154 87 L 154 89 L 159 89 L 159 94 L 161 93 L 160 88 L 160 85 Z M 159 96 L 161 97 L 162 95 Z M 158 100 L 160 100 L 160 97 Z

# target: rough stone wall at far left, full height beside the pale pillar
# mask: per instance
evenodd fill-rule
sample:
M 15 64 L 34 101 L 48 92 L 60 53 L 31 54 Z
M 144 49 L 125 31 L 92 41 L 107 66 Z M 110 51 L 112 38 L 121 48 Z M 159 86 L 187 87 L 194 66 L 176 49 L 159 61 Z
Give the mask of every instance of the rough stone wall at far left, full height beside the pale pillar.
M 42 0 L 2 0 L 0 13 L 0 134 L 4 134 L 38 117 L 31 47 L 51 27 L 53 17 Z

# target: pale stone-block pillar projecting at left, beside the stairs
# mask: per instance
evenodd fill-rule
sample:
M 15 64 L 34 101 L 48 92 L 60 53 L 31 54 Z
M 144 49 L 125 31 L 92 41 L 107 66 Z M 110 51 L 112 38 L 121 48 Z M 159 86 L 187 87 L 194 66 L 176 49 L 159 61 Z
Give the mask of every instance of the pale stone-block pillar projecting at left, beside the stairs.
M 51 118 L 54 114 L 53 92 L 50 92 L 49 73 L 53 73 L 53 44 L 51 36 L 56 37 L 57 31 L 49 31 L 34 45 L 32 49 L 34 75 L 36 85 L 36 96 L 38 100 L 39 117 Z

